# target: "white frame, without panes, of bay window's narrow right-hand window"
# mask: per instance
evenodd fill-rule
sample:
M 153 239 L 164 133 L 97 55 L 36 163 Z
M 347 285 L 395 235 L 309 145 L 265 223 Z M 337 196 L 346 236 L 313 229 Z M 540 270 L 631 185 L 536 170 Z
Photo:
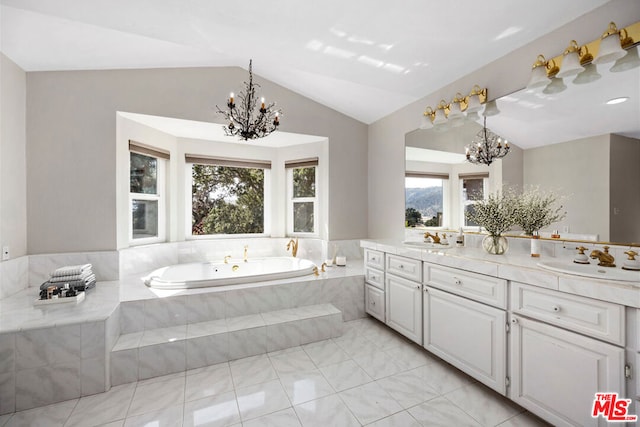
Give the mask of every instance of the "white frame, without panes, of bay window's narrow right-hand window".
M 315 194 L 313 197 L 294 197 L 293 196 L 293 171 L 294 169 L 302 169 L 302 168 L 314 168 L 315 176 L 314 176 L 314 184 L 315 184 Z M 286 171 L 286 185 L 287 185 L 287 214 L 286 214 L 286 230 L 287 236 L 293 237 L 319 237 L 319 192 L 320 186 L 320 166 L 317 158 L 314 159 L 305 159 L 305 160 L 295 160 L 295 161 L 287 161 L 285 162 L 285 171 Z M 294 231 L 294 205 L 295 203 L 313 203 L 313 231 Z

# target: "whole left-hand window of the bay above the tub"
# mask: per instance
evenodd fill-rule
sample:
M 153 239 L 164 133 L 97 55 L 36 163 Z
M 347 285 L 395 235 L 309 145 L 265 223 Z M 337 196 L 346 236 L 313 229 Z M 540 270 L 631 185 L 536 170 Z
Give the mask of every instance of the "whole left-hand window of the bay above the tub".
M 129 239 L 135 244 L 165 240 L 165 161 L 168 153 L 129 142 Z

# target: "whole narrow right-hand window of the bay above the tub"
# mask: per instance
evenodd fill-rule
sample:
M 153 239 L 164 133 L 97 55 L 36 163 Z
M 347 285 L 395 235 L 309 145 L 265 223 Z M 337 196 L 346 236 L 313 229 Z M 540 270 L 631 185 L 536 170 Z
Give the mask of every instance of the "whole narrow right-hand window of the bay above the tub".
M 317 234 L 318 159 L 285 163 L 288 183 L 287 231 L 289 234 Z

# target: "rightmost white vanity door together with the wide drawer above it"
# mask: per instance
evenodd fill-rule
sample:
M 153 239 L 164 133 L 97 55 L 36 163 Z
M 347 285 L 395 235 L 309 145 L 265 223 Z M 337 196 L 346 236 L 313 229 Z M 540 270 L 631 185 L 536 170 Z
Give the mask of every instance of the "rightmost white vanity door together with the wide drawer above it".
M 624 345 L 624 307 L 517 282 L 511 290 L 509 397 L 557 426 L 606 425 L 591 411 L 597 392 L 625 395 L 625 350 L 602 341 Z

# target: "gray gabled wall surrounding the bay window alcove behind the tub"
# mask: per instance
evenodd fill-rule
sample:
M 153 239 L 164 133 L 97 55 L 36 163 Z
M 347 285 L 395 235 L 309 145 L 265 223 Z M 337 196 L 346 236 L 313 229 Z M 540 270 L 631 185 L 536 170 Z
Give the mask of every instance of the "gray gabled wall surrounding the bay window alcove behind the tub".
M 31 254 L 115 249 L 116 111 L 220 122 L 240 68 L 27 73 Z M 367 236 L 367 126 L 255 76 L 286 132 L 329 138 L 329 239 Z M 259 142 L 256 142 L 259 144 Z

